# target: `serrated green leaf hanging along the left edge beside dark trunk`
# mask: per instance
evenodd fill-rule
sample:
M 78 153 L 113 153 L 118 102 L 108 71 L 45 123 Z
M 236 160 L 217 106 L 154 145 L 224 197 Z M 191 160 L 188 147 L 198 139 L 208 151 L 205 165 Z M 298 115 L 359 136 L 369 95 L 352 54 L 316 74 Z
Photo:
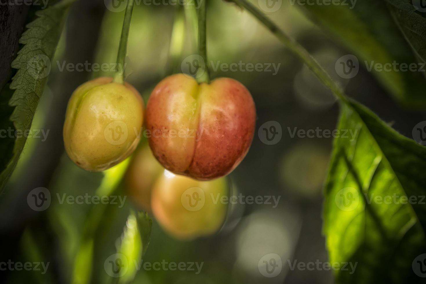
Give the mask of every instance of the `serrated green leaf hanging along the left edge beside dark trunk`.
M 75 0 L 64 0 L 55 6 L 36 12 L 37 19 L 29 23 L 19 43 L 23 44 L 12 68 L 18 69 L 10 89 L 14 90 L 9 105 L 14 107 L 10 120 L 17 131 L 30 129 L 38 101 L 50 72 L 50 60 L 55 53 L 69 4 Z M 0 169 L 0 191 L 17 164 L 26 142 L 25 135 L 16 138 L 12 157 L 4 161 Z M 2 148 L 3 149 L 3 148 Z M 6 151 L 6 150 L 5 150 Z M 10 149 L 8 148 L 9 152 Z M 6 153 L 4 154 L 6 155 Z

